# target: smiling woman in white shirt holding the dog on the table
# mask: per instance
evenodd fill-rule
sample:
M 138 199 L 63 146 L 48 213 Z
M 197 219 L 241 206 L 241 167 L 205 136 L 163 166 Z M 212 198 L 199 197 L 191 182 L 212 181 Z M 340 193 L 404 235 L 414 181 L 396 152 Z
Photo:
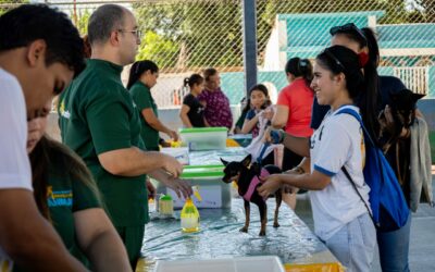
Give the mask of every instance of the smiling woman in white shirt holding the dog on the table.
M 366 88 L 372 78 L 364 78 L 363 61 L 364 58 L 343 46 L 326 48 L 318 55 L 311 87 L 319 103 L 330 104 L 331 111 L 311 140 L 282 135 L 290 149 L 311 157 L 311 173 L 271 175 L 258 189 L 264 197 L 282 185 L 310 190 L 314 232 L 348 271 L 370 271 L 376 246 L 375 227 L 365 207 L 370 188 L 362 173 L 363 134 L 357 119 L 337 114 L 344 107 L 359 112 L 355 106 L 357 98 L 374 91 Z

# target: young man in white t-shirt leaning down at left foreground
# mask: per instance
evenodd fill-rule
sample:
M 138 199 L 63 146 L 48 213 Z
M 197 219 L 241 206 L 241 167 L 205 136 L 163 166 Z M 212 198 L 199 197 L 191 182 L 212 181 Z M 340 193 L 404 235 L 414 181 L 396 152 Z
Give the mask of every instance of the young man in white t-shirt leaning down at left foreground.
M 27 122 L 85 67 L 83 41 L 67 16 L 24 4 L 0 16 L 0 268 L 85 271 L 34 200 Z

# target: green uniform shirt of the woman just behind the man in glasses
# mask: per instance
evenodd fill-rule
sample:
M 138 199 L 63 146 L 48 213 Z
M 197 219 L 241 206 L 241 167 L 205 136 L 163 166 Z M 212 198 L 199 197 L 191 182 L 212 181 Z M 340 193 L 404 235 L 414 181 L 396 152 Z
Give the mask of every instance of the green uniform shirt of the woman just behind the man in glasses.
M 139 111 L 140 122 L 142 125 L 140 135 L 142 136 L 145 146 L 148 150 L 159 150 L 159 132 L 152 128 L 147 121 L 145 121 L 141 113 L 145 109 L 152 109 L 156 116 L 159 116 L 156 101 L 151 96 L 151 90 L 144 83 L 138 81 L 132 86 L 129 92 L 132 94 L 133 101 L 136 103 L 137 110 Z

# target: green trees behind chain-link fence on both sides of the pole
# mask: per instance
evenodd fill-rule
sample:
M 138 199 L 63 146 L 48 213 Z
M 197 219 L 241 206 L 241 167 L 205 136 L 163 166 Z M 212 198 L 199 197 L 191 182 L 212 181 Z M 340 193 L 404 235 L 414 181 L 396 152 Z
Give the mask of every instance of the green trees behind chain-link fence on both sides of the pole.
M 407 0 L 257 0 L 258 49 L 261 55 L 279 13 L 385 11 L 380 23 L 421 22 L 415 12 L 406 9 L 406 3 Z M 133 8 L 146 36 L 171 41 L 170 50 L 163 52 L 151 49 L 159 42 L 141 48 L 147 53 L 140 55 L 153 59 L 162 69 L 243 65 L 240 0 L 146 1 Z

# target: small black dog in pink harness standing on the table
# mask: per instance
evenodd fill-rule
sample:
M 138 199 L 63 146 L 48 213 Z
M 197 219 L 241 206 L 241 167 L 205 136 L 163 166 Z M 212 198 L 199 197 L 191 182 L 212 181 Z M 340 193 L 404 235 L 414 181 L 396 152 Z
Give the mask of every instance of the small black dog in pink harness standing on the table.
M 253 162 L 251 164 L 251 156 L 248 154 L 243 161 L 233 161 L 227 162 L 221 159 L 222 163 L 225 165 L 224 169 L 224 177 L 222 181 L 224 183 L 231 183 L 235 181 L 238 186 L 238 194 L 244 198 L 245 201 L 245 226 L 240 228 L 240 232 L 247 233 L 250 221 L 250 206 L 249 202 L 256 203 L 260 210 L 260 219 L 261 219 L 261 230 L 260 236 L 265 235 L 265 225 L 268 222 L 268 206 L 265 199 L 261 197 L 257 188 L 261 185 L 260 176 L 265 177 L 270 174 L 281 173 L 279 168 L 275 165 L 265 165 L 261 168 L 260 164 Z M 276 209 L 275 209 L 275 218 L 273 221 L 273 226 L 278 227 L 278 209 L 282 202 L 282 190 L 278 189 L 275 193 L 276 198 Z

